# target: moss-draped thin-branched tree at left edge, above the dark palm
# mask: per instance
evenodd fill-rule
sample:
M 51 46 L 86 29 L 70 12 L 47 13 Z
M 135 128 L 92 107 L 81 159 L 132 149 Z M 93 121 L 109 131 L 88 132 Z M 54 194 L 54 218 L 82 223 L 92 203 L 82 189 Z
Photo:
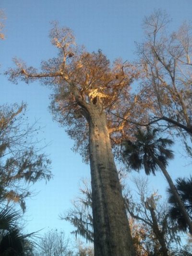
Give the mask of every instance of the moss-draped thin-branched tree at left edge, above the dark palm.
M 51 178 L 50 160 L 39 154 L 37 129 L 27 123 L 26 105 L 0 106 L 0 202 L 19 203 L 30 195 L 26 183 Z

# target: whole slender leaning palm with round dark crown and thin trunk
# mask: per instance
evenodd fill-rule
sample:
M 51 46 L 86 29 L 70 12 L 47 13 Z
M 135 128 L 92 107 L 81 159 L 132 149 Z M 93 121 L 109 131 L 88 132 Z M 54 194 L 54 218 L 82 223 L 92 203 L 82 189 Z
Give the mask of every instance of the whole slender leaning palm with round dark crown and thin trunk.
M 158 129 L 146 130 L 138 129 L 134 134 L 135 141 L 127 140 L 124 143 L 123 157 L 133 170 L 140 170 L 144 168 L 147 175 L 161 170 L 168 181 L 170 190 L 172 191 L 175 200 L 178 203 L 180 212 L 185 219 L 189 231 L 192 234 L 192 221 L 185 209 L 185 206 L 178 194 L 178 191 L 166 170 L 168 160 L 173 159 L 173 151 L 168 149 L 168 146 L 173 145 L 173 141 L 168 138 L 157 137 Z

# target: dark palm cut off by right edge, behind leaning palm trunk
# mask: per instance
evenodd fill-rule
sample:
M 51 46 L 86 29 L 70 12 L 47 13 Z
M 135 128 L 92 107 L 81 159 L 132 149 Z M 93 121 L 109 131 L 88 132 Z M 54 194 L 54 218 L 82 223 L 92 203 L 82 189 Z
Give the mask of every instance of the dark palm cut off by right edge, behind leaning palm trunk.
M 177 191 L 184 203 L 184 206 L 186 208 L 186 211 L 188 212 L 188 215 L 192 221 L 192 176 L 188 179 L 184 178 L 178 178 L 176 180 L 176 188 Z M 180 211 L 180 207 L 178 205 L 177 200 L 175 200 L 175 197 L 171 191 L 171 189 L 168 189 L 168 202 L 170 203 L 171 207 L 169 209 L 169 214 L 171 219 L 176 221 L 179 225 L 179 228 L 183 231 L 187 230 L 187 222 Z

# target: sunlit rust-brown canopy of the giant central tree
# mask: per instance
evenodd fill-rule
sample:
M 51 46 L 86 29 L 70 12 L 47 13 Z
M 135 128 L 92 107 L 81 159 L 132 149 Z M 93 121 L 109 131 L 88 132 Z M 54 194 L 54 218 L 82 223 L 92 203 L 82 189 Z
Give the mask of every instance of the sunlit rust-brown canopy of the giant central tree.
M 6 74 L 14 83 L 38 80 L 53 90 L 50 109 L 54 119 L 68 127 L 67 133 L 76 141 L 74 149 L 79 149 L 87 160 L 88 126 L 82 102 L 86 106 L 95 105 L 107 114 L 112 143 L 120 144 L 122 137 L 130 136 L 132 130 L 132 125 L 123 119 L 139 115 L 134 109 L 137 99 L 131 94 L 131 84 L 138 79 L 140 70 L 121 59 L 111 64 L 101 50 L 87 52 L 76 45 L 71 29 L 59 28 L 57 23 L 53 24 L 49 36 L 58 48 L 57 57 L 42 61 L 41 71 L 14 59 L 16 68 Z

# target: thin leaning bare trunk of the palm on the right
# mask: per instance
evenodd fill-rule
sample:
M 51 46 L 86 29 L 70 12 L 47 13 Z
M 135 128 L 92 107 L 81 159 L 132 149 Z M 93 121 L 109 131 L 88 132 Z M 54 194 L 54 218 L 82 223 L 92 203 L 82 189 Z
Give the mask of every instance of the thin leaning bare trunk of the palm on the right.
M 189 232 L 192 234 L 192 221 L 189 218 L 189 215 L 188 215 L 188 213 L 185 209 L 185 206 L 184 206 L 184 204 L 183 204 L 183 202 L 180 198 L 180 195 L 178 194 L 178 191 L 177 191 L 170 175 L 168 174 L 168 171 L 165 169 L 165 167 L 162 165 L 162 163 L 157 158 L 156 158 L 156 162 L 157 162 L 158 166 L 160 167 L 161 171 L 163 172 L 164 176 L 166 177 L 166 179 L 168 181 L 168 184 L 169 184 L 169 187 L 172 190 L 173 195 L 175 196 L 175 198 L 177 200 L 178 206 L 180 207 L 180 211 L 181 211 L 185 221 L 188 224 Z

